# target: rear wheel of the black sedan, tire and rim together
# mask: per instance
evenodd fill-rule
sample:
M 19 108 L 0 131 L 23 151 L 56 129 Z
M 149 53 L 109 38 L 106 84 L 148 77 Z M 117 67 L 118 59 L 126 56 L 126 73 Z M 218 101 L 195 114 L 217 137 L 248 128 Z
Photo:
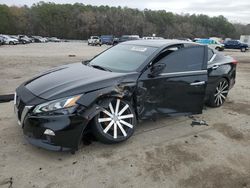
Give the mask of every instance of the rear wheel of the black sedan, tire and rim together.
M 222 106 L 227 98 L 228 92 L 229 83 L 225 78 L 221 78 L 211 93 L 207 105 L 211 107 Z

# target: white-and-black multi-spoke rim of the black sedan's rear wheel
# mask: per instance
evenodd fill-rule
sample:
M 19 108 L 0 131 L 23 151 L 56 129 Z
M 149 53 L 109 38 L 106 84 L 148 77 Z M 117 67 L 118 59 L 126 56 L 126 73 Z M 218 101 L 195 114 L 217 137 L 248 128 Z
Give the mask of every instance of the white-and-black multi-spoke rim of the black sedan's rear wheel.
M 217 106 L 221 106 L 226 100 L 226 97 L 229 91 L 228 88 L 229 88 L 229 85 L 226 80 L 221 81 L 216 87 L 216 91 L 214 94 L 214 103 Z

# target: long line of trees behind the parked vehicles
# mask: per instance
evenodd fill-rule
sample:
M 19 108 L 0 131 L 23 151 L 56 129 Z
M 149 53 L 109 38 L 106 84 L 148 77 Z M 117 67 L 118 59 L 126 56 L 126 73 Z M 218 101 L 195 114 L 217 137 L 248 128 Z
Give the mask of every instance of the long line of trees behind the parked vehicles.
M 0 33 L 65 39 L 107 34 L 151 36 L 153 33 L 164 38 L 239 38 L 241 34 L 250 34 L 250 24 L 233 24 L 224 16 L 39 2 L 31 7 L 1 4 Z

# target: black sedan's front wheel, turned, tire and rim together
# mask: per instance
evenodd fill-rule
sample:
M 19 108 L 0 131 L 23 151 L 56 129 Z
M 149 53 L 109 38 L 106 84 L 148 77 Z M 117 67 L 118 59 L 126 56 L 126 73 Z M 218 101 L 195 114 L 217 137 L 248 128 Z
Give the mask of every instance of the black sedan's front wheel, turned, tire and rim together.
M 132 105 L 125 100 L 112 98 L 109 107 L 94 117 L 92 132 L 100 142 L 115 144 L 131 137 L 135 127 L 136 115 Z

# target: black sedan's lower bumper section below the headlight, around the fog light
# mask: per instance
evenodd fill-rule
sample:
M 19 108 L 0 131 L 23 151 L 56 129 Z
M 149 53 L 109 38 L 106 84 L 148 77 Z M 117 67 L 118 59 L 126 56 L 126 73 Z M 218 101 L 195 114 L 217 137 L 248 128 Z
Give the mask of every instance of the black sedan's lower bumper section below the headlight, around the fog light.
M 77 150 L 88 120 L 77 114 L 57 116 L 31 116 L 23 121 L 23 133 L 35 146 L 54 151 Z M 44 134 L 49 129 L 55 135 Z

